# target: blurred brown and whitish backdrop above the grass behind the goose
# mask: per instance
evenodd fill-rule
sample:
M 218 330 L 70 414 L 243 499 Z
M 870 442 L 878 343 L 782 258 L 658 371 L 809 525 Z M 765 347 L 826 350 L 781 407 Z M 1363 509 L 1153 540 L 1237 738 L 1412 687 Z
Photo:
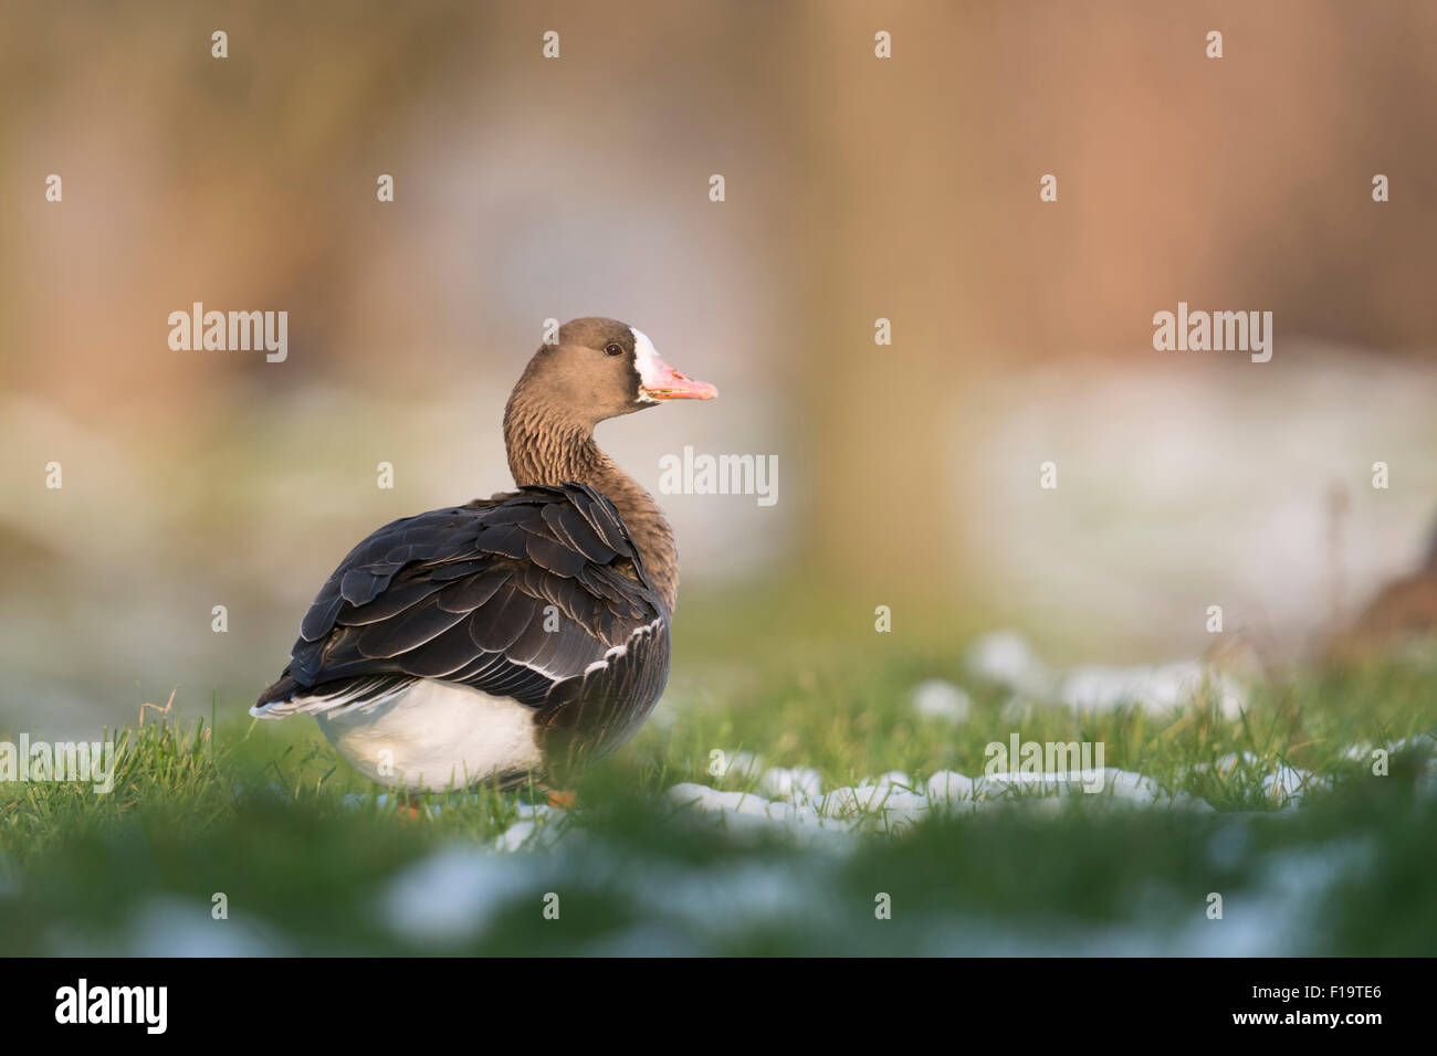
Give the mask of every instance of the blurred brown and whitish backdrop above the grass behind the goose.
M 996 626 L 1164 659 L 1209 605 L 1302 658 L 1421 565 L 1434 4 L 13 1 L 0 29 L 6 726 L 171 690 L 239 714 L 355 542 L 510 486 L 546 318 L 718 385 L 601 428 L 650 490 L 685 445 L 779 458 L 773 506 L 660 496 L 680 680 Z M 1272 312 L 1272 362 L 1155 352 L 1180 300 Z M 172 351 L 193 302 L 286 310 L 287 361 Z

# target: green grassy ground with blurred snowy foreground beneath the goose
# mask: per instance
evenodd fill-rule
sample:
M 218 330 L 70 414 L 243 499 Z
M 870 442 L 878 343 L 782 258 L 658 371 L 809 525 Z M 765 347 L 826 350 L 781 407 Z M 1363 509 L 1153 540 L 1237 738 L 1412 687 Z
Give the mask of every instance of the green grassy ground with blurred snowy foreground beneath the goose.
M 1079 717 L 1015 711 L 953 651 L 785 647 L 724 675 L 684 641 L 661 713 L 568 812 L 481 790 L 411 816 L 312 721 L 256 723 L 223 697 L 217 726 L 121 731 L 111 795 L 0 784 L 0 953 L 1437 951 L 1426 750 L 1395 751 L 1387 776 L 1348 751 L 1437 728 L 1431 661 L 1298 671 L 1253 687 L 1236 720 L 1201 698 Z M 914 711 L 928 678 L 967 690 L 967 721 Z M 1109 767 L 1211 809 L 1017 797 L 795 839 L 665 795 L 757 787 L 711 776 L 714 749 L 812 767 L 825 789 L 897 770 L 921 790 L 941 770 L 979 776 L 984 746 L 1015 731 L 1102 741 Z M 1283 766 L 1311 774 L 1300 807 L 1267 780 Z

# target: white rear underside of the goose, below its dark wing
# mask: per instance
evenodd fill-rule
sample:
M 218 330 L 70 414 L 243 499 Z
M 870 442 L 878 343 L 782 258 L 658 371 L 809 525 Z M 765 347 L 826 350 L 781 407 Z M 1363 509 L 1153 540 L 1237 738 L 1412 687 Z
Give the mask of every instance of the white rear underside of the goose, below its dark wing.
M 444 792 L 537 769 L 533 708 L 424 680 L 369 710 L 319 714 L 319 728 L 371 780 Z

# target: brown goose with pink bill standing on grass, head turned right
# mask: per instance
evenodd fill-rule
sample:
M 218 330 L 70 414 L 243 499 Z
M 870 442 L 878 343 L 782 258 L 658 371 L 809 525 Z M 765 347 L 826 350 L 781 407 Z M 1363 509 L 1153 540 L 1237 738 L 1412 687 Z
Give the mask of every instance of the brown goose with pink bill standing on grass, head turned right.
M 351 766 L 405 795 L 572 783 L 658 703 L 678 598 L 674 533 L 593 428 L 717 395 L 632 326 L 565 323 L 504 408 L 517 490 L 355 546 L 250 714 L 316 717 Z

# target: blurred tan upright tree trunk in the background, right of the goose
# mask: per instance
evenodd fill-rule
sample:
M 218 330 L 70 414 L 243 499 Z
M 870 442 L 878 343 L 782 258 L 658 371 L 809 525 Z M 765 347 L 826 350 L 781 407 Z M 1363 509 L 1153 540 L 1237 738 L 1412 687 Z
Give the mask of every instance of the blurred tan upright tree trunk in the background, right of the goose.
M 976 287 L 963 237 L 958 78 L 924 40 L 961 39 L 956 9 L 904 19 L 856 3 L 810 9 L 805 385 L 815 570 L 874 603 L 931 595 L 961 560 L 954 409 Z M 892 34 L 891 59 L 874 34 Z M 966 76 L 964 76 L 966 79 Z M 917 106 L 915 101 L 927 99 Z M 875 343 L 888 319 L 892 343 Z

